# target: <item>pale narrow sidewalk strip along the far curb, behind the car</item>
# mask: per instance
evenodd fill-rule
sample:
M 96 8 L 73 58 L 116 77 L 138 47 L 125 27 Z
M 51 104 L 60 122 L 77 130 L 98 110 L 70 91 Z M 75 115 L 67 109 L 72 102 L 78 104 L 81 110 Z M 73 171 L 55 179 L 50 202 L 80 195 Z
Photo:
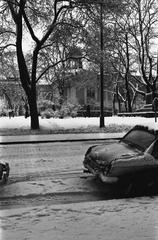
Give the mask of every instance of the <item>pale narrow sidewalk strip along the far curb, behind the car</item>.
M 0 145 L 120 139 L 124 134 L 125 133 L 73 133 L 0 136 Z

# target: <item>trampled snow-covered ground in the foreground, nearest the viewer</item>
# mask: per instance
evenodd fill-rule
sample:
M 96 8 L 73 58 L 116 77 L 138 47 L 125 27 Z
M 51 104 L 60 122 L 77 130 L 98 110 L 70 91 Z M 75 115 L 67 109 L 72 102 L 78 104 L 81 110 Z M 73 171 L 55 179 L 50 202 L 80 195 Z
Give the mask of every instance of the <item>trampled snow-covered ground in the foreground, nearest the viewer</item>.
M 2 210 L 1 240 L 157 240 L 158 198 Z

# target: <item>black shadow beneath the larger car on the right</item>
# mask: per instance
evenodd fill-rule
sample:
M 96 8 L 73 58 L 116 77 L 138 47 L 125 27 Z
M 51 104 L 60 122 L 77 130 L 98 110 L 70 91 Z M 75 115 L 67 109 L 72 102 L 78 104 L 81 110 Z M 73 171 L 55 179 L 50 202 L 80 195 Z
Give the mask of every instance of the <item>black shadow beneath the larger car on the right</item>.
M 103 183 L 100 179 L 94 178 L 92 184 L 98 188 L 95 194 L 100 200 L 158 195 L 158 176 L 154 172 L 141 176 L 140 174 L 124 176 L 113 184 Z

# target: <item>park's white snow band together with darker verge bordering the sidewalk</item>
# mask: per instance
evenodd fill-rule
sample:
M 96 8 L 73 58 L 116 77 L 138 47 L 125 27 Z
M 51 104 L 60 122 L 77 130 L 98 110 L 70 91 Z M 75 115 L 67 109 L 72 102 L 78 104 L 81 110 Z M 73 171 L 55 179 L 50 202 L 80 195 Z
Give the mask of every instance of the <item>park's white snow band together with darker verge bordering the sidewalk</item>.
M 42 134 L 42 133 L 91 133 L 91 132 L 125 132 L 135 125 L 146 125 L 156 129 L 158 123 L 154 118 L 145 117 L 106 117 L 105 127 L 99 128 L 99 118 L 39 118 L 40 130 L 30 130 L 30 118 L 1 117 L 1 135 Z

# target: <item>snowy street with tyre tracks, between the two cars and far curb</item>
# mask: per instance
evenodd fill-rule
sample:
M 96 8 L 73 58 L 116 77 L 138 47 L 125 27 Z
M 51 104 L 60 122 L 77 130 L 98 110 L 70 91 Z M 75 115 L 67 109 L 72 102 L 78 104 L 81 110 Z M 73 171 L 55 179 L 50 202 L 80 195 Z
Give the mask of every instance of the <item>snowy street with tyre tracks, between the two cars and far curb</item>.
M 97 199 L 104 186 L 83 173 L 82 161 L 87 148 L 101 142 L 0 146 L 11 169 L 8 184 L 0 188 L 0 209 Z

